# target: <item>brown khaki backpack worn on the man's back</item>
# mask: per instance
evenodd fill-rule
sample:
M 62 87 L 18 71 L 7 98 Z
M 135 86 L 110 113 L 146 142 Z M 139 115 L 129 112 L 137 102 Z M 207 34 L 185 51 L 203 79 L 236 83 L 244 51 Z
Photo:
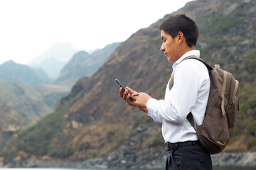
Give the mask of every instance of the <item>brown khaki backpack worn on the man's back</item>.
M 206 65 L 210 77 L 210 94 L 203 124 L 196 125 L 191 113 L 188 113 L 187 119 L 196 130 L 201 146 L 210 154 L 217 154 L 228 145 L 235 126 L 239 111 L 239 82 L 232 74 L 220 69 L 219 65 L 212 68 L 196 56 L 187 57 L 185 60 L 188 59 L 199 60 Z M 169 84 L 171 89 L 174 85 L 174 74 Z

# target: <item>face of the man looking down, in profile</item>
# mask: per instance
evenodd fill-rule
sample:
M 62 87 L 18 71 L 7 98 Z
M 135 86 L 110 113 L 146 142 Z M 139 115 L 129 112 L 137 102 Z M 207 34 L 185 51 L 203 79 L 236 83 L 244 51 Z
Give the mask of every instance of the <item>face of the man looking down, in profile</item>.
M 164 52 L 164 55 L 167 57 L 169 62 L 176 62 L 178 60 L 178 37 L 176 36 L 174 39 L 168 33 L 161 30 L 161 39 L 163 43 L 161 45 L 160 50 Z

